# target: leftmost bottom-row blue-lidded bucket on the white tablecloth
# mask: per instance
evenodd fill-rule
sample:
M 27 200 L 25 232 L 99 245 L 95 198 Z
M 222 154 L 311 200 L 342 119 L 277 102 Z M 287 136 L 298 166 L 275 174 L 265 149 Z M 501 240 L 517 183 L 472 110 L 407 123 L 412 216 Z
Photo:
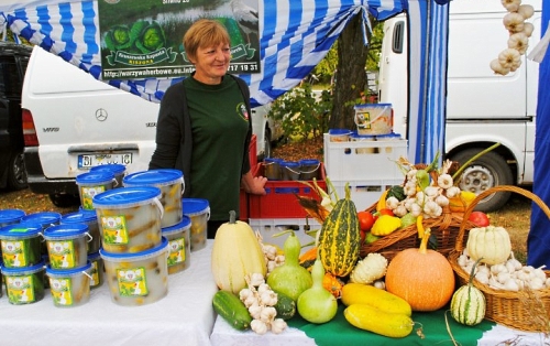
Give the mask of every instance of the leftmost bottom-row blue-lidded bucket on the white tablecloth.
M 10 304 L 32 304 L 44 298 L 44 264 L 42 261 L 24 268 L 1 267 Z

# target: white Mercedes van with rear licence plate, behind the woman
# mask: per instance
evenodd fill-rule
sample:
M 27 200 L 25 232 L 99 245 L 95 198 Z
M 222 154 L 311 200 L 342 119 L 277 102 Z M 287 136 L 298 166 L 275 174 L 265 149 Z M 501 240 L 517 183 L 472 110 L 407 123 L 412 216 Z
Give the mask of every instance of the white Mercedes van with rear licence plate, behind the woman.
M 22 90 L 31 191 L 66 206 L 78 202 L 76 176 L 95 165 L 122 163 L 129 173 L 147 170 L 155 150 L 158 107 L 35 46 Z M 252 111 L 261 158 L 275 139 L 268 109 L 267 105 Z

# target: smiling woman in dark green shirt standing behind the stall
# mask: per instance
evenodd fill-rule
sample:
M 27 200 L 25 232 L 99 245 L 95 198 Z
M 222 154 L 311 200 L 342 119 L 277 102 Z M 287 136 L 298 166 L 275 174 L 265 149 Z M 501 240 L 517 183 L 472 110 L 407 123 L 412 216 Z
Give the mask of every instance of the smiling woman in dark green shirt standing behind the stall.
M 209 202 L 208 238 L 213 238 L 230 210 L 239 215 L 241 185 L 248 193 L 264 195 L 267 180 L 251 173 L 250 90 L 244 80 L 227 73 L 231 46 L 226 28 L 199 20 L 184 35 L 184 47 L 195 72 L 162 99 L 148 167 L 184 173 L 184 196 Z

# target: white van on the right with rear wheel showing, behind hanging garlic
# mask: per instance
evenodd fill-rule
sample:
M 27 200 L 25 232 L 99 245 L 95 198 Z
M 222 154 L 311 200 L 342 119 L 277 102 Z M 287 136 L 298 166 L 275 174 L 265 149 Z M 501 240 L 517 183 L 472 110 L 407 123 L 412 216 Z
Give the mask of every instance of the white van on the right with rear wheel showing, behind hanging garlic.
M 536 12 L 529 46 L 540 40 L 541 0 L 524 0 Z M 446 156 L 464 163 L 499 142 L 464 171 L 461 187 L 480 193 L 495 185 L 532 184 L 538 64 L 521 56 L 521 66 L 506 76 L 495 75 L 492 60 L 507 47 L 507 13 L 499 0 L 450 2 Z M 407 133 L 407 19 L 384 23 L 380 61 L 378 99 L 394 108 L 394 129 Z M 529 53 L 529 50 L 527 54 Z M 477 208 L 495 210 L 508 199 L 499 193 Z

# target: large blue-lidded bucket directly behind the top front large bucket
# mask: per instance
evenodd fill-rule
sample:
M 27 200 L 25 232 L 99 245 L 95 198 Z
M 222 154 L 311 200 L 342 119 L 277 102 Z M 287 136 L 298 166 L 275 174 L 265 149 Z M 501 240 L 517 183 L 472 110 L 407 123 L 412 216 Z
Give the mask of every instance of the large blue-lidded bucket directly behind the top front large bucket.
M 161 188 L 161 204 L 164 207 L 164 215 L 161 227 L 169 227 L 182 221 L 183 206 L 182 195 L 184 194 L 184 174 L 179 170 L 151 170 L 136 172 L 124 176 L 124 186 L 155 186 Z

